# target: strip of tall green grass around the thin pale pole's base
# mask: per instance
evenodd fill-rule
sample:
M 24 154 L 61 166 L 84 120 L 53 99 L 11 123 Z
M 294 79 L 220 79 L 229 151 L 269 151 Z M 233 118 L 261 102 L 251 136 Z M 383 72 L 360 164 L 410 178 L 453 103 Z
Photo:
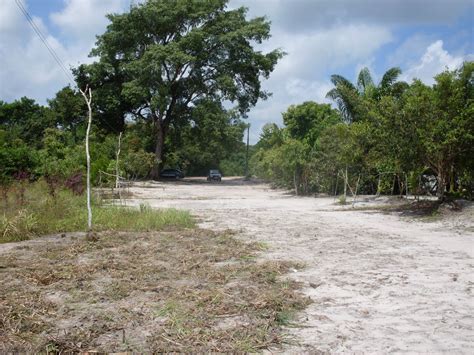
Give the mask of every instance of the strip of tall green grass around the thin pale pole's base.
M 14 190 L 8 194 L 7 201 L 2 202 L 0 243 L 45 234 L 85 231 L 87 228 L 85 197 L 61 190 L 53 198 L 47 193 L 47 187 L 42 182 L 27 186 L 22 204 L 16 198 Z M 188 212 L 175 209 L 132 209 L 103 206 L 97 201 L 94 201 L 92 208 L 93 228 L 96 231 L 153 231 L 194 226 Z

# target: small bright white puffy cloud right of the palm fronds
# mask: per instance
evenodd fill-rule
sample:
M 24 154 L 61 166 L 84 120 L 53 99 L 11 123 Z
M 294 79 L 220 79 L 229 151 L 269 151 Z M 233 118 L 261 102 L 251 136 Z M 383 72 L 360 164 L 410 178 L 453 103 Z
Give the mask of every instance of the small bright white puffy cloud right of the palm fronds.
M 433 77 L 442 71 L 458 68 L 468 56 L 454 56 L 443 48 L 443 41 L 431 43 L 417 63 L 411 66 L 402 76 L 402 79 L 411 81 L 420 79 L 426 84 L 433 84 Z

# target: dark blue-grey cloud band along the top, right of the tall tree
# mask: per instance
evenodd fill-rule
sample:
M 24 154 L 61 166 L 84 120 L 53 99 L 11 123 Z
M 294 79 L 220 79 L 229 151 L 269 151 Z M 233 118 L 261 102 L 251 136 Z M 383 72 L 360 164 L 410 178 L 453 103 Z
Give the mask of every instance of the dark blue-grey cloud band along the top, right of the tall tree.
M 252 16 L 268 15 L 291 33 L 325 28 L 335 22 L 383 26 L 449 24 L 473 11 L 472 0 L 231 0 Z

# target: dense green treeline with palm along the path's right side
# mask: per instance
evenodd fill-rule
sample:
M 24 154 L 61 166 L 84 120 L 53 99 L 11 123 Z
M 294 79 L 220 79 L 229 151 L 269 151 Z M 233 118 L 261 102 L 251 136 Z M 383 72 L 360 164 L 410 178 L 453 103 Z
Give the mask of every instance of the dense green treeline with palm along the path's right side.
M 305 102 L 268 124 L 252 157 L 253 173 L 298 194 L 432 193 L 472 198 L 474 62 L 446 70 L 427 86 L 398 81 L 392 68 L 374 83 L 333 75 L 327 93 L 338 109 Z M 347 181 L 347 184 L 345 184 Z

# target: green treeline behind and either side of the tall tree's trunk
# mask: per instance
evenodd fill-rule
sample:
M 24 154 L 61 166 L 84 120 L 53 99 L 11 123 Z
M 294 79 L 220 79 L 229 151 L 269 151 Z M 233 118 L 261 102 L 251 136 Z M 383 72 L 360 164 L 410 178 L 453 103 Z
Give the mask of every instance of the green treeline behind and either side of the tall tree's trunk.
M 0 101 L 0 184 L 40 177 L 60 182 L 85 172 L 86 114 L 82 96 L 70 87 L 47 106 L 26 97 Z M 99 181 L 99 171 L 115 174 L 120 131 L 120 175 L 148 178 L 156 163 L 153 123 L 135 119 L 119 127 L 112 122 L 93 116 L 92 181 Z M 246 126 L 235 114 L 209 104 L 194 112 L 192 122 L 178 123 L 169 127 L 164 167 L 181 168 L 188 175 L 204 175 L 210 168 L 226 175 L 244 173 Z

